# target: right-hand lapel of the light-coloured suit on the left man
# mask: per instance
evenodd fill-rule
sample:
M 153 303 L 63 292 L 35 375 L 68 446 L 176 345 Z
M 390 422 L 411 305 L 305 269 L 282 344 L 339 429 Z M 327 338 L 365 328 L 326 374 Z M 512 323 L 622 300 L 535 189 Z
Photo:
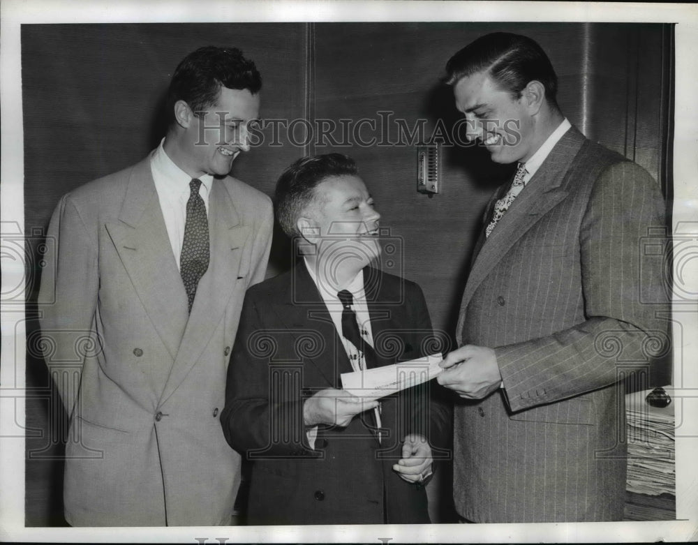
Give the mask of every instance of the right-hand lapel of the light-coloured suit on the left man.
M 161 403 L 172 395 L 191 368 L 198 363 L 211 336 L 221 324 L 228 301 L 235 292 L 235 282 L 246 282 L 244 276 L 248 271 L 241 270 L 241 261 L 242 248 L 249 234 L 249 228 L 240 223 L 235 202 L 228 193 L 227 186 L 223 181 L 214 180 L 209 198 L 209 268 L 196 288 L 191 315 L 186 322 Z

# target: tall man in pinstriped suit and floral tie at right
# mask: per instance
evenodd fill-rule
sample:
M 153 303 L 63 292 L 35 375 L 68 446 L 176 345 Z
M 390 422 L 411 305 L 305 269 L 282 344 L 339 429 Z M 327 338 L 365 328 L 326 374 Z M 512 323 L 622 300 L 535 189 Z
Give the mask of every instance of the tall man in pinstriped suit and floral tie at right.
M 496 163 L 518 163 L 487 207 L 438 377 L 456 404 L 454 500 L 465 521 L 623 518 L 621 379 L 666 350 L 658 184 L 587 140 L 556 103 L 541 47 L 493 33 L 447 64 L 456 107 Z M 648 387 L 645 385 L 644 387 Z

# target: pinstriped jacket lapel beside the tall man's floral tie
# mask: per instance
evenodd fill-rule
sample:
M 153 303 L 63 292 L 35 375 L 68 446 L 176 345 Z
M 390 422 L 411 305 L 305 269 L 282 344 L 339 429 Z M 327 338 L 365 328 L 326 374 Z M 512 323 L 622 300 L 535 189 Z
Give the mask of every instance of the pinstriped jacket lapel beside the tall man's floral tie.
M 526 188 L 502 216 L 489 239 L 483 240 L 480 244 L 480 252 L 475 257 L 463 292 L 459 324 L 456 329 L 459 336 L 463 329 L 465 309 L 475 290 L 514 244 L 523 237 L 523 234 L 526 234 L 542 216 L 567 196 L 568 192 L 565 191 L 563 182 L 570 174 L 572 160 L 579 152 L 584 140 L 584 136 L 574 127 L 567 130 L 533 178 L 526 184 Z M 484 239 L 484 236 L 481 238 Z

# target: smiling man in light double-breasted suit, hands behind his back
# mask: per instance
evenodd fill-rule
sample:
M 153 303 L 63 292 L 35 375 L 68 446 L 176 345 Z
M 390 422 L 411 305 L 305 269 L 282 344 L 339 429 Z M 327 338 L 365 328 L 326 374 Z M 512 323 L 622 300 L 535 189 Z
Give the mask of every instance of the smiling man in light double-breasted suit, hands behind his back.
M 265 276 L 272 204 L 228 173 L 249 149 L 261 84 L 239 50 L 189 54 L 160 146 L 54 212 L 39 301 L 70 417 L 70 525 L 232 521 L 241 458 L 218 418 L 244 294 Z

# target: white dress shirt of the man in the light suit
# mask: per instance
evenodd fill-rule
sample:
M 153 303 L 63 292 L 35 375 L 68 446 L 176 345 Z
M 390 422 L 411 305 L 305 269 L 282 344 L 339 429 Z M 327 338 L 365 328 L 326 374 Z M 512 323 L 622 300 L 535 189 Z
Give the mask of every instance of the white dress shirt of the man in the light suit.
M 184 225 L 186 225 L 186 202 L 191 193 L 189 182 L 192 178 L 175 165 L 165 153 L 163 142 L 165 142 L 164 138 L 153 153 L 150 160 L 150 170 L 153 173 L 153 181 L 158 192 L 163 218 L 165 218 L 165 228 L 168 230 L 168 237 L 170 237 L 174 260 L 177 262 L 177 269 L 179 269 L 179 256 L 184 241 Z M 199 195 L 204 200 L 208 213 L 209 194 L 214 177 L 211 174 L 205 174 L 198 179 L 201 180 Z

